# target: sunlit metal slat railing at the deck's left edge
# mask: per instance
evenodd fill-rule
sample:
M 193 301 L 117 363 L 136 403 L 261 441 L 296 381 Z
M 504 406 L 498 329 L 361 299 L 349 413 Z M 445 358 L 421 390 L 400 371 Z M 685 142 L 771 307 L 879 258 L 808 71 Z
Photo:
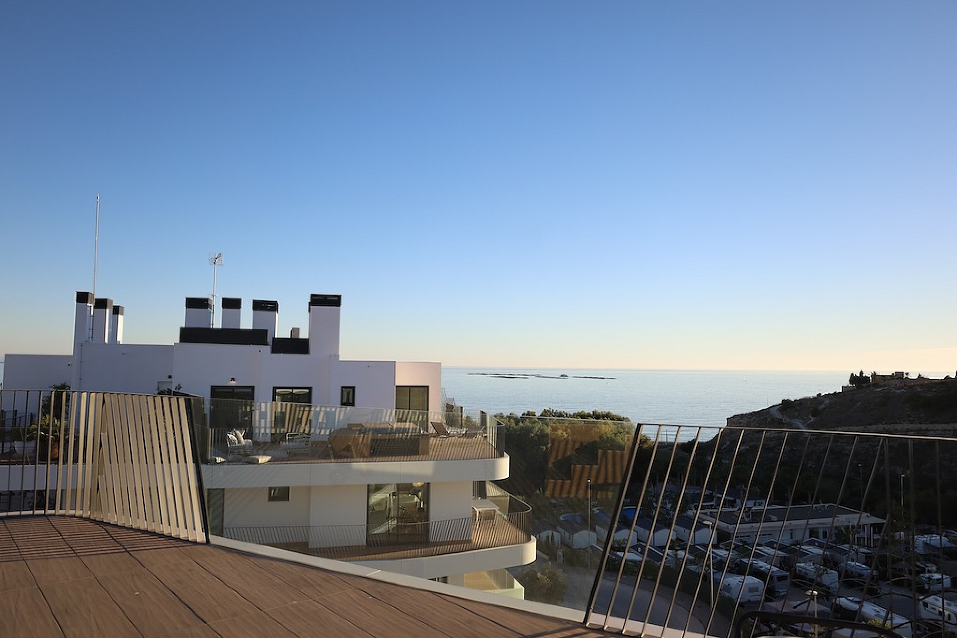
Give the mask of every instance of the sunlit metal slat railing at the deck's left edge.
M 0 407 L 39 415 L 0 428 L 0 515 L 206 539 L 187 398 L 5 390 Z

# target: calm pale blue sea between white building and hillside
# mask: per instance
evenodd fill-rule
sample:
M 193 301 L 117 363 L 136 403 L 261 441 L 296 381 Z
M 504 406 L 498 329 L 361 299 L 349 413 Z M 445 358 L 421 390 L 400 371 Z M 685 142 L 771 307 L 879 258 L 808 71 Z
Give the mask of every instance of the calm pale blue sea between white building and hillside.
M 442 366 L 446 396 L 491 414 L 611 410 L 634 423 L 723 426 L 730 416 L 837 392 L 850 372 Z

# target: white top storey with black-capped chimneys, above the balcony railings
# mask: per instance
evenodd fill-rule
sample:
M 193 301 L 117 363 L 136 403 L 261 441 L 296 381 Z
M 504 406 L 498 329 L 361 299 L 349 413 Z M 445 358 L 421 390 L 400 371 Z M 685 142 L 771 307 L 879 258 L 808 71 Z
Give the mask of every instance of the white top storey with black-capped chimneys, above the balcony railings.
M 344 361 L 339 356 L 341 295 L 311 295 L 306 337 L 280 337 L 278 302 L 254 299 L 242 327 L 242 299 L 222 298 L 213 327 L 208 297 L 187 297 L 178 343 L 124 343 L 123 308 L 77 293 L 73 352 L 8 354 L 4 389 L 46 389 L 67 382 L 77 391 L 151 394 L 179 387 L 219 399 L 322 406 L 401 407 L 440 411 L 441 364 Z

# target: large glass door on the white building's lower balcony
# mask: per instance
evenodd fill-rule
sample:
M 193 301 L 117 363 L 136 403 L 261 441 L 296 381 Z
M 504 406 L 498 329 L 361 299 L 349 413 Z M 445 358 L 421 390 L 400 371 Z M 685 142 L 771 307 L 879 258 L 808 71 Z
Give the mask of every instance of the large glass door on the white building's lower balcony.
M 381 483 L 367 490 L 369 546 L 429 540 L 428 483 Z

